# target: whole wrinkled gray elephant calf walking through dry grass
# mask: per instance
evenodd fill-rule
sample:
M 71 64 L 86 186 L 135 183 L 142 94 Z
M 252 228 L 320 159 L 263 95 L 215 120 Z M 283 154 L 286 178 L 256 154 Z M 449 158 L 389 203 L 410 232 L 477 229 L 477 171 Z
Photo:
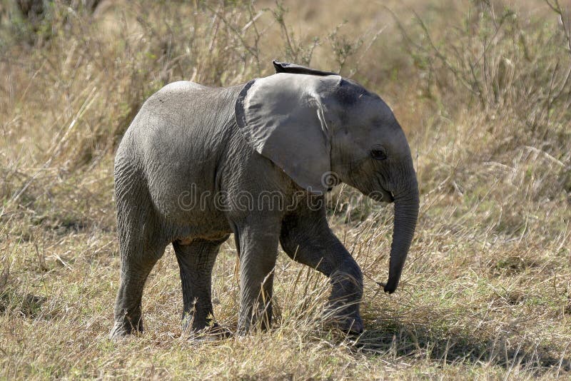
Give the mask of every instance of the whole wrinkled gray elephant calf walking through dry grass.
M 375 200 L 395 202 L 385 292 L 397 288 L 418 216 L 403 130 L 357 83 L 274 65 L 273 76 L 241 86 L 171 83 L 148 98 L 123 136 L 115 159 L 121 282 L 111 337 L 143 330 L 143 286 L 169 243 L 180 266 L 183 324 L 208 327 L 212 268 L 231 233 L 241 269 L 238 332 L 271 322 L 278 243 L 330 278 L 335 321 L 362 332 L 363 275 L 328 227 L 324 203 L 315 208 L 335 183 L 324 177 L 329 172 Z M 281 197 L 281 208 L 260 198 L 268 191 Z M 205 194 L 224 197 L 194 205 Z M 254 200 L 248 208 L 244 195 Z

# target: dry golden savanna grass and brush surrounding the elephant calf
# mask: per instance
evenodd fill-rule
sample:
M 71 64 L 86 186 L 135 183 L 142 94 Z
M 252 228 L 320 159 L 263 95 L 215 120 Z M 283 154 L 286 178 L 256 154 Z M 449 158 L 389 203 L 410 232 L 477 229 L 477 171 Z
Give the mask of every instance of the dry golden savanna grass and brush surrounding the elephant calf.
M 568 2 L 44 3 L 29 18 L 0 3 L 0 378 L 571 377 Z M 338 188 L 330 223 L 365 274 L 361 337 L 322 325 L 328 280 L 281 253 L 272 330 L 187 340 L 168 248 L 146 332 L 111 342 L 122 133 L 168 82 L 243 83 L 274 58 L 340 71 L 393 107 L 421 193 L 400 288 L 377 284 L 392 207 Z M 234 329 L 231 241 L 214 273 Z

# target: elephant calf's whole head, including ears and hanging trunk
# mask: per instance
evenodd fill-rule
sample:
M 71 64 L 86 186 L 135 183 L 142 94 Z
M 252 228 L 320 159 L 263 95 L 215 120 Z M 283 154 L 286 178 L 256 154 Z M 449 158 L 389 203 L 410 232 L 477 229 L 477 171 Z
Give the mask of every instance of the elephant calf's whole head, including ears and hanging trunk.
M 312 193 L 336 180 L 395 203 L 385 292 L 393 293 L 418 218 L 418 184 L 405 134 L 375 93 L 335 73 L 274 61 L 277 73 L 244 86 L 236 121 L 246 141 Z

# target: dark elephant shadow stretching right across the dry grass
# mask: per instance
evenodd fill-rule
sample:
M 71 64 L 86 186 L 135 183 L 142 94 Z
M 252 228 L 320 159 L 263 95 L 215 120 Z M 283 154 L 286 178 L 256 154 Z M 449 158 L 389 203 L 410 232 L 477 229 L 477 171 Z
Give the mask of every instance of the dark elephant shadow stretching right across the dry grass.
M 365 330 L 355 340 L 353 350 L 398 361 L 424 357 L 440 366 L 479 364 L 512 369 L 519 365 L 533 375 L 571 374 L 571 357 L 565 346 L 562 350 L 525 340 L 516 342 L 515 337 L 509 336 L 477 337 L 444 332 L 427 323 L 411 325 L 383 320 Z

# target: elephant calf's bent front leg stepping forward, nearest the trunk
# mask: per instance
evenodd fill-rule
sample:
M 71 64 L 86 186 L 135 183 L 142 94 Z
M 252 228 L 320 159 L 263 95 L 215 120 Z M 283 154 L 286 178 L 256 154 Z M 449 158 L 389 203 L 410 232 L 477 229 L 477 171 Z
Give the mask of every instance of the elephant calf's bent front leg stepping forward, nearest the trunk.
M 324 210 L 302 210 L 285 218 L 281 245 L 293 260 L 328 276 L 330 319 L 345 332 L 363 332 L 359 303 L 363 273 L 350 253 L 331 232 Z

